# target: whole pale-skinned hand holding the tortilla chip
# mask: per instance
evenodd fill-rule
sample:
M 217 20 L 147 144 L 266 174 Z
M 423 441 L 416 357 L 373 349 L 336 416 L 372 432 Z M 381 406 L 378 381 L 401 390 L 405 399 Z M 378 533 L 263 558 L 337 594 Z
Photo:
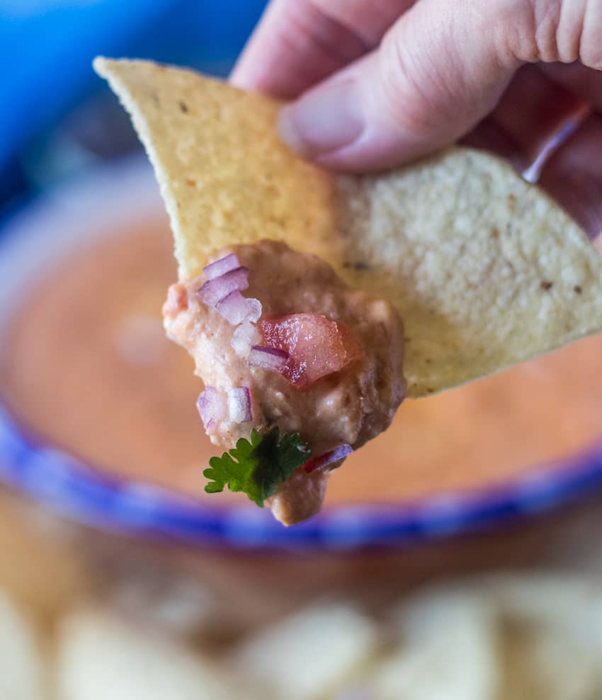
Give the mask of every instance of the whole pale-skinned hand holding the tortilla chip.
M 602 231 L 602 0 L 271 0 L 231 79 L 289 100 L 281 137 L 341 171 L 458 139 L 523 171 L 566 125 L 540 184 Z

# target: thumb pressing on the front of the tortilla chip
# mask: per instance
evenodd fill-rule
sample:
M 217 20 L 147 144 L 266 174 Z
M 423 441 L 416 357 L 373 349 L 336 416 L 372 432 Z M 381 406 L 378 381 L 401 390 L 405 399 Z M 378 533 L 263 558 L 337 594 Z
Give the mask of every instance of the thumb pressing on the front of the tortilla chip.
M 375 52 L 283 108 L 281 137 L 346 171 L 386 168 L 455 141 L 492 110 L 521 63 L 504 40 L 522 30 L 521 3 L 511 4 L 496 17 L 504 3 L 421 0 Z

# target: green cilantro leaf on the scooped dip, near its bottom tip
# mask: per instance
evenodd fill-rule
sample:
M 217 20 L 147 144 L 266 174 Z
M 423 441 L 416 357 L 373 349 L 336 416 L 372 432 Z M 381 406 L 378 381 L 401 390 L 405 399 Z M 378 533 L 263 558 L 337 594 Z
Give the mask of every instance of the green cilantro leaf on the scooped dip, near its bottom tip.
M 231 491 L 243 491 L 263 507 L 263 501 L 274 495 L 278 484 L 309 459 L 311 452 L 298 432 L 285 432 L 273 428 L 265 435 L 251 431 L 251 440 L 241 437 L 236 447 L 221 457 L 212 457 L 203 476 L 210 481 L 205 485 L 207 493 L 218 493 L 225 486 Z

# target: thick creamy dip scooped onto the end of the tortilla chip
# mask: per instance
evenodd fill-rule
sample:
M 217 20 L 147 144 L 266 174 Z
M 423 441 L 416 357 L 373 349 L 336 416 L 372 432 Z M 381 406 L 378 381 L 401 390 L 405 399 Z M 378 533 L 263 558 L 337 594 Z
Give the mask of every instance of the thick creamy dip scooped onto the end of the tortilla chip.
M 328 264 L 285 243 L 234 246 L 219 251 L 212 260 L 226 256 L 235 256 L 237 270 L 248 274 L 245 297 L 261 302 L 255 331 L 247 324 L 256 332 L 256 345 L 274 342 L 266 330 L 270 319 L 287 319 L 277 321 L 285 329 L 301 319 L 299 323 L 312 329 L 305 338 L 309 348 L 304 357 L 309 355 L 309 364 L 321 367 L 323 376 L 300 386 L 294 381 L 298 368 L 287 374 L 285 369 L 279 372 L 250 364 L 248 350 L 240 352 L 233 343 L 243 324 L 227 320 L 200 297 L 205 275 L 174 285 L 164 306 L 169 337 L 191 353 L 196 374 L 223 396 L 224 403 L 233 390 L 249 391 L 246 420 L 224 414 L 206 425 L 212 442 L 234 447 L 252 429 L 266 432 L 276 425 L 281 433 L 298 432 L 318 456 L 341 444 L 357 449 L 388 428 L 405 396 L 403 326 L 392 304 L 351 289 Z M 236 270 L 226 275 L 232 273 Z M 340 348 L 334 347 L 331 335 L 340 341 Z M 335 355 L 343 355 L 343 366 L 332 371 L 329 361 Z M 305 367 L 306 374 L 309 369 Z M 317 512 L 326 476 L 326 469 L 307 474 L 301 466 L 281 483 L 269 501 L 278 520 L 293 524 Z

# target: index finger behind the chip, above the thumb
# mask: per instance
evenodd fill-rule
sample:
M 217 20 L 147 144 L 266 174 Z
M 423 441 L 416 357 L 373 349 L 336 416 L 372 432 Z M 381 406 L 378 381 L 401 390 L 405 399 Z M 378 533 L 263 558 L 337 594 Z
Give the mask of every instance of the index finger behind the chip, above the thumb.
M 295 98 L 372 50 L 416 0 L 272 0 L 230 81 Z

